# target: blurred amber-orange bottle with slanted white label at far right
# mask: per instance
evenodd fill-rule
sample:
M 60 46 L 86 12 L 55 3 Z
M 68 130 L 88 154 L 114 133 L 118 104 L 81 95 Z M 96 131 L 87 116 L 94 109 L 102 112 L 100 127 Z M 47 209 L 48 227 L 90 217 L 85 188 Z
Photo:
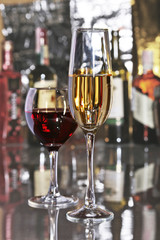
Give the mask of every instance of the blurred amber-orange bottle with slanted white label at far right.
M 154 88 L 160 78 L 153 73 L 153 52 L 143 51 L 143 74 L 133 80 L 133 141 L 137 144 L 157 143 L 153 117 Z

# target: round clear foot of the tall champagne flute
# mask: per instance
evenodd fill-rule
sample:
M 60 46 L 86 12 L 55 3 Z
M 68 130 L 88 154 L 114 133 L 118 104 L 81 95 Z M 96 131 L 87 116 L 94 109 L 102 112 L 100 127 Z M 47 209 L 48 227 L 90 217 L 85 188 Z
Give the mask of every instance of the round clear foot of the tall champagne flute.
M 97 206 L 88 208 L 83 206 L 66 214 L 66 217 L 71 222 L 82 223 L 101 223 L 103 221 L 111 221 L 114 214 L 108 210 L 101 209 Z

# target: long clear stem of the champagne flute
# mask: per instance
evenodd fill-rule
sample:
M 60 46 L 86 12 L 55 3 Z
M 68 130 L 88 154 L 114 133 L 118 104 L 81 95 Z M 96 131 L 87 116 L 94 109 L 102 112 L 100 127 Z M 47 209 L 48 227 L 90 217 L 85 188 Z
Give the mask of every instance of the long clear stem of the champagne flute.
M 92 208 L 95 206 L 95 193 L 94 193 L 94 178 L 93 178 L 93 153 L 95 134 L 87 133 L 86 148 L 87 148 L 87 189 L 85 196 L 85 206 Z

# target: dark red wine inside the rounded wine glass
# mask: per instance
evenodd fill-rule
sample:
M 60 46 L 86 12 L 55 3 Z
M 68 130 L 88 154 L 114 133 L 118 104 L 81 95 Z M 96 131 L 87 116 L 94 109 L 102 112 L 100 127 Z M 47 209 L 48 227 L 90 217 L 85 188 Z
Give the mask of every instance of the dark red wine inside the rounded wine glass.
M 77 128 L 69 110 L 33 109 L 25 114 L 30 130 L 49 151 L 58 151 Z

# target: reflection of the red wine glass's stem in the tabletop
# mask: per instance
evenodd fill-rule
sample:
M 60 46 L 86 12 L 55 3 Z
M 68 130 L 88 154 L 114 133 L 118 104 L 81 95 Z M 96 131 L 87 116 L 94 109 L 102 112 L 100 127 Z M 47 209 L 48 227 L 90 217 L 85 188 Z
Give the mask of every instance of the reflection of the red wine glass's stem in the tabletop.
M 48 209 L 50 222 L 50 240 L 58 240 L 58 216 L 59 209 Z

